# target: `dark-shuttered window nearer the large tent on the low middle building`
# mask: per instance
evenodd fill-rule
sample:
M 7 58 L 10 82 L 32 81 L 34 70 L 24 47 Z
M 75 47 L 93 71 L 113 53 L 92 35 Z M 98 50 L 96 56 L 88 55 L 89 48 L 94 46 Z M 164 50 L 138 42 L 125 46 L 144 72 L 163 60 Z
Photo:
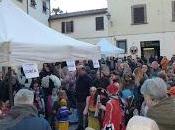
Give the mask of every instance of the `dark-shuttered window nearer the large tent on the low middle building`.
M 73 26 L 73 21 L 69 22 L 62 22 L 62 33 L 73 33 L 74 31 L 74 26 Z

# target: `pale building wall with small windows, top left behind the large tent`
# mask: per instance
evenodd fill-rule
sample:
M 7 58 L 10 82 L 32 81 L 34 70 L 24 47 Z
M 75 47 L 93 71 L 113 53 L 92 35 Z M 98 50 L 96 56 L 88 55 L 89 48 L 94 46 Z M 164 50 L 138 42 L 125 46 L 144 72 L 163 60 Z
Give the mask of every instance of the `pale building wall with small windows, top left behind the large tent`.
M 48 26 L 50 0 L 12 0 L 24 12 Z

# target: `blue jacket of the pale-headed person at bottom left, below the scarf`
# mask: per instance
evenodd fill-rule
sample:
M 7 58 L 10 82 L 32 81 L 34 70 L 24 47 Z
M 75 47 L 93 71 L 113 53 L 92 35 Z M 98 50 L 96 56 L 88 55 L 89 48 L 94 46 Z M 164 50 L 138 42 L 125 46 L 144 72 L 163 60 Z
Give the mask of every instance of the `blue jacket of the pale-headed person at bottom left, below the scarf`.
M 51 127 L 44 118 L 28 117 L 7 130 L 51 130 Z

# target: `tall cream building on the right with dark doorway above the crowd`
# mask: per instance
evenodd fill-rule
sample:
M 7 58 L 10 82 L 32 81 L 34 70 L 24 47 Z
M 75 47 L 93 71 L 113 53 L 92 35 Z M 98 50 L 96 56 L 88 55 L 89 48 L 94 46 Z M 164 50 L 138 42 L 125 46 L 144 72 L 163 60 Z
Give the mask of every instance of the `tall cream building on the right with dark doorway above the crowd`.
M 174 0 L 108 0 L 111 41 L 149 58 L 175 54 Z M 131 50 L 130 50 L 131 49 Z

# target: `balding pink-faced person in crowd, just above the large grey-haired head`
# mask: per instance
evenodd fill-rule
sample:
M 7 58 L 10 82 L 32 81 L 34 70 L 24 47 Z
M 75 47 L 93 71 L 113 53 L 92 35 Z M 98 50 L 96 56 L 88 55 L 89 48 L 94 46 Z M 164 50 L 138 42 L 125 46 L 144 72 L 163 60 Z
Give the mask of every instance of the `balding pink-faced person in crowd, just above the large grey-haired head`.
M 159 64 L 157 61 L 153 61 L 151 63 L 151 72 L 150 72 L 150 77 L 157 77 L 157 74 L 161 71 L 159 68 Z

